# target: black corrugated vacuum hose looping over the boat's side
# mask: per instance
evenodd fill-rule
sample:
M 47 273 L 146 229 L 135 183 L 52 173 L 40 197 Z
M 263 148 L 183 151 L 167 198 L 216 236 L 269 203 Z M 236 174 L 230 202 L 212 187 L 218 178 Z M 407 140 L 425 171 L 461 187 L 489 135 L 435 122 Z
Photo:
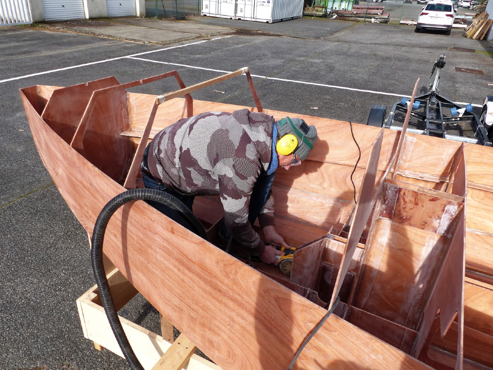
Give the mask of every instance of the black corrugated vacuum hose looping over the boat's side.
M 207 234 L 200 221 L 188 207 L 186 207 L 174 196 L 157 189 L 132 189 L 117 195 L 102 209 L 98 219 L 96 220 L 96 224 L 94 224 L 91 240 L 92 272 L 94 273 L 94 280 L 96 280 L 96 284 L 98 284 L 99 294 L 106 312 L 106 316 L 108 317 L 113 334 L 115 334 L 115 338 L 117 339 L 123 355 L 125 356 L 125 359 L 130 367 L 134 370 L 144 370 L 141 363 L 137 359 L 134 350 L 132 350 L 125 332 L 123 331 L 122 324 L 118 318 L 118 312 L 115 308 L 115 304 L 113 303 L 113 299 L 111 298 L 111 292 L 103 266 L 103 240 L 109 219 L 124 204 L 138 199 L 161 202 L 162 204 L 180 212 L 198 236 L 207 240 Z

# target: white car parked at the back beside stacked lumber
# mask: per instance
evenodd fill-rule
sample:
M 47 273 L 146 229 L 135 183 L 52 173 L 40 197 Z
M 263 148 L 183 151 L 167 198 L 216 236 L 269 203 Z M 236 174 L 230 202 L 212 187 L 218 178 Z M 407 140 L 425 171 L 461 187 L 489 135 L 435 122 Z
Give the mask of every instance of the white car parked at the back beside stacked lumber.
M 456 18 L 457 9 L 454 9 L 451 1 L 430 1 L 423 7 L 418 16 L 418 23 L 414 32 L 421 32 L 422 29 L 437 29 L 446 31 L 450 34 L 453 21 Z

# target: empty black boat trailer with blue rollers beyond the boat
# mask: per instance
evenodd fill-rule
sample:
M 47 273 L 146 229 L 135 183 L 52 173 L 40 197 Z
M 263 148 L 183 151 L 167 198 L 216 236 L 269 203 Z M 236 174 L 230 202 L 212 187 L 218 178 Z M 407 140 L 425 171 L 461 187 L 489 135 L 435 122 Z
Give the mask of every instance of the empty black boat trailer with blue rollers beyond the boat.
M 445 66 L 445 55 L 440 54 L 440 58 L 433 65 L 431 70 L 431 77 L 433 74 L 435 78 L 433 83 L 430 84 L 428 92 L 424 95 L 418 96 L 414 99 L 414 103 L 411 109 L 411 116 L 418 119 L 418 124 L 423 125 L 424 130 L 416 130 L 408 128 L 408 131 L 428 135 L 441 137 L 444 139 L 452 139 L 458 141 L 466 141 L 471 143 L 480 143 L 485 146 L 492 146 L 491 139 L 493 138 L 493 131 L 490 130 L 489 137 L 486 128 L 480 121 L 478 116 L 473 112 L 472 105 L 467 104 L 465 107 L 461 107 L 456 103 L 448 100 L 439 94 L 438 85 L 440 83 L 440 71 Z M 402 98 L 399 103 L 395 103 L 392 110 L 385 122 L 385 115 L 387 113 L 386 105 L 373 105 L 370 109 L 367 124 L 376 127 L 392 128 L 393 130 L 399 130 L 401 127 L 392 126 L 396 113 L 406 114 L 410 100 L 408 98 Z M 467 138 L 457 135 L 448 135 L 445 132 L 447 124 L 457 125 L 459 122 L 469 122 L 475 133 L 476 139 Z

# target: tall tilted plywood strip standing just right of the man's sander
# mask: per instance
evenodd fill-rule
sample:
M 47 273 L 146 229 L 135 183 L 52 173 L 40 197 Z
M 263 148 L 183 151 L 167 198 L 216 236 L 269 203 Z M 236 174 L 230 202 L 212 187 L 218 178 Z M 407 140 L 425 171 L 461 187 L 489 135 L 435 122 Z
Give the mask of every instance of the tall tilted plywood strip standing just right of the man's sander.
M 349 264 L 353 260 L 354 252 L 356 251 L 359 238 L 365 229 L 370 213 L 373 210 L 371 200 L 373 198 L 373 191 L 375 189 L 376 169 L 378 165 L 378 158 L 380 157 L 380 150 L 382 147 L 383 130 L 380 135 L 375 139 L 368 162 L 366 165 L 366 172 L 363 177 L 362 190 L 359 192 L 358 202 L 354 210 L 354 215 L 351 220 L 351 228 L 348 235 L 348 241 L 344 249 L 342 261 L 340 263 L 339 271 L 337 272 L 337 279 L 335 282 L 334 292 L 330 300 L 329 307 L 332 307 L 337 295 L 339 294 L 340 287 L 342 286 L 343 279 L 348 272 Z

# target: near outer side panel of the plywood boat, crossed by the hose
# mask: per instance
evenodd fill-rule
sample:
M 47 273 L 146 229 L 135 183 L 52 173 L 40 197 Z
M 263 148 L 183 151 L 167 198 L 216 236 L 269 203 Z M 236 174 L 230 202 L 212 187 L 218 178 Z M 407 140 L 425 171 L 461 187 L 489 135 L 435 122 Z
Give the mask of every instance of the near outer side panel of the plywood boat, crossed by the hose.
M 48 171 L 75 216 L 92 232 L 101 208 L 124 189 L 56 136 L 27 99 L 24 104 Z M 73 173 L 60 171 L 60 163 L 67 161 Z M 103 251 L 151 304 L 222 368 L 286 368 L 326 312 L 142 201 L 113 216 Z M 279 315 L 290 320 L 279 320 Z M 347 368 L 348 359 L 356 369 L 427 368 L 335 316 L 301 353 L 297 367 Z

